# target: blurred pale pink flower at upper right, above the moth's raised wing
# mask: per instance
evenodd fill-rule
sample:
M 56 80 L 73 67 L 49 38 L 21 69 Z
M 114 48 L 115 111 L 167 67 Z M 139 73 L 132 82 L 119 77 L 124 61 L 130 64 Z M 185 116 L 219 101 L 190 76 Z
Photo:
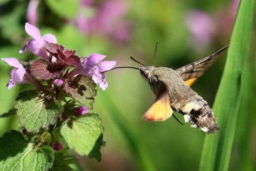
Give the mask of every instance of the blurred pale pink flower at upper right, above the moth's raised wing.
M 191 33 L 191 46 L 196 51 L 206 48 L 216 32 L 215 23 L 202 11 L 189 11 L 186 15 L 186 26 Z

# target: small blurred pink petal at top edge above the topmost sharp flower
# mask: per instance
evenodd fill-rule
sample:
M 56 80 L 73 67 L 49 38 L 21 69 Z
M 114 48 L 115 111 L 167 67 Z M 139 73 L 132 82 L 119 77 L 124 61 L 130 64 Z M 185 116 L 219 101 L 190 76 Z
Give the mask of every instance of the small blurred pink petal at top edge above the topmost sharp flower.
M 39 5 L 39 0 L 30 0 L 29 6 L 27 9 L 27 19 L 28 22 L 32 25 L 37 25 L 38 13 L 37 7 Z

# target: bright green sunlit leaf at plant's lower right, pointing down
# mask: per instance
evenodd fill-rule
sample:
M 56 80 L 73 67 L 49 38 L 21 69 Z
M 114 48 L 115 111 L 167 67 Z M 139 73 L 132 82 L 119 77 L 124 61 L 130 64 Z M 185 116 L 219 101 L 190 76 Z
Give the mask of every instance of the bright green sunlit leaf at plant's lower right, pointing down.
M 101 118 L 97 113 L 87 113 L 76 120 L 68 120 L 61 128 L 61 134 L 70 149 L 98 161 L 101 161 L 102 132 Z

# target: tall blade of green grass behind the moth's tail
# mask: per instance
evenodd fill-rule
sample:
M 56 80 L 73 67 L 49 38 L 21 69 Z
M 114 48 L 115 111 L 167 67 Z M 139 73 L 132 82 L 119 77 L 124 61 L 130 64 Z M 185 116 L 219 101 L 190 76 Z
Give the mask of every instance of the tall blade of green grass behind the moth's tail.
M 200 171 L 227 171 L 236 129 L 241 82 L 251 37 L 255 0 L 241 0 L 235 21 L 225 70 L 213 111 L 220 131 L 206 135 Z

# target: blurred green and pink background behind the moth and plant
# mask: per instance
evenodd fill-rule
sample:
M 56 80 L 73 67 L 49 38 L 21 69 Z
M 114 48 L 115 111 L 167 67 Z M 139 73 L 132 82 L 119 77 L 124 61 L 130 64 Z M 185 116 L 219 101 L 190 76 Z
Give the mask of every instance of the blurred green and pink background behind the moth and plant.
M 25 22 L 52 33 L 58 43 L 80 56 L 107 55 L 117 67 L 141 67 L 129 57 L 155 66 L 178 68 L 228 45 L 239 0 L 0 0 L 0 58 L 36 59 L 19 50 L 30 38 Z M 255 28 L 242 92 L 230 171 L 256 167 Z M 193 86 L 212 106 L 225 65 L 226 52 Z M 0 113 L 8 112 L 30 85 L 5 86 L 11 67 L 0 62 Z M 78 156 L 85 171 L 198 170 L 205 133 L 174 118 L 145 122 L 143 113 L 155 100 L 137 70 L 116 69 L 107 75 L 109 88 L 99 89 L 94 111 L 105 127 L 102 161 Z M 225 104 L 224 104 L 225 105 Z M 230 113 L 232 115 L 232 113 Z M 184 123 L 182 115 L 176 114 Z M 0 118 L 0 134 L 20 129 L 16 116 Z M 206 135 L 214 136 L 214 135 Z M 243 168 L 243 169 L 242 169 Z

